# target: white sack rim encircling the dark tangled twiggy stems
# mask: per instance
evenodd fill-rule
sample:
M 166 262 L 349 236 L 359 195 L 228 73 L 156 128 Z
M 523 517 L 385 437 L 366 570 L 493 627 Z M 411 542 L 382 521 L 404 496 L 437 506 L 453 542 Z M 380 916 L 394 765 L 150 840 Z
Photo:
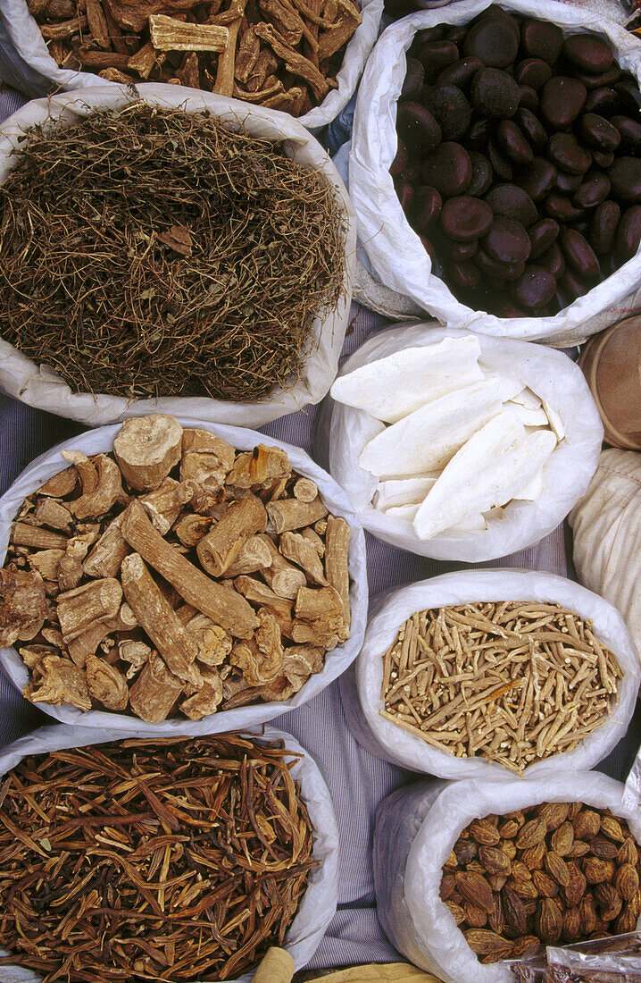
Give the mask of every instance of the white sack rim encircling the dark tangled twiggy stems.
M 33 26 L 35 29 L 35 25 Z M 46 366 L 38 368 L 27 356 L 2 339 L 0 388 L 29 406 L 36 406 L 39 410 L 56 413 L 61 417 L 70 417 L 91 427 L 116 423 L 128 417 L 146 416 L 148 413 L 182 413 L 210 423 L 261 427 L 288 413 L 295 413 L 309 403 L 318 403 L 334 381 L 338 370 L 349 318 L 356 242 L 353 208 L 345 185 L 328 153 L 287 113 L 252 106 L 222 95 L 181 89 L 180 86 L 149 83 L 136 87 L 136 91 L 150 105 L 181 108 L 187 112 L 208 109 L 231 127 L 243 126 L 252 137 L 284 141 L 284 149 L 289 157 L 303 166 L 323 171 L 346 214 L 345 293 L 334 314 L 314 319 L 309 352 L 303 360 L 299 378 L 290 386 L 277 387 L 268 397 L 255 402 L 230 402 L 205 396 L 127 399 L 124 396 L 73 393 L 70 386 L 53 369 Z M 126 87 L 105 84 L 83 88 L 81 92 L 27 102 L 26 106 L 0 126 L 0 183 L 18 161 L 17 155 L 12 151 L 18 146 L 27 127 L 43 124 L 48 129 L 59 120 L 71 126 L 94 109 L 118 109 L 131 101 L 132 95 Z

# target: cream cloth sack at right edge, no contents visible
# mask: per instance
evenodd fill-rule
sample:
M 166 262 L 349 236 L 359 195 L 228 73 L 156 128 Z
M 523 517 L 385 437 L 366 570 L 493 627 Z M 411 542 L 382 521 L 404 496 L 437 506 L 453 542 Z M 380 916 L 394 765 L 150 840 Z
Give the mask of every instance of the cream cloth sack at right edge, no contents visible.
M 604 450 L 569 523 L 579 580 L 619 609 L 641 652 L 641 454 Z

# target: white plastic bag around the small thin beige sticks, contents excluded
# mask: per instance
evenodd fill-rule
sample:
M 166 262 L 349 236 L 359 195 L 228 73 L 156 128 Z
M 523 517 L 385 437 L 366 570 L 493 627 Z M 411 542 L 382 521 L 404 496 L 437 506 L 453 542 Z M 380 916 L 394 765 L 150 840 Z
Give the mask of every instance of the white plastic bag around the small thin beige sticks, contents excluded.
M 573 751 L 530 765 L 525 770 L 525 779 L 551 776 L 560 768 L 563 771 L 594 768 L 610 754 L 632 719 L 641 682 L 639 656 L 615 607 L 565 577 L 538 570 L 459 570 L 419 581 L 375 601 L 376 613 L 370 616 L 362 648 L 353 666 L 341 677 L 343 708 L 353 736 L 372 754 L 414 772 L 442 779 L 523 781 L 485 758 L 455 758 L 380 714 L 383 657 L 401 624 L 416 611 L 483 601 L 560 604 L 585 619 L 592 619 L 595 633 L 614 652 L 624 676 L 619 681 L 619 702 L 613 716 L 604 718 L 603 725 Z

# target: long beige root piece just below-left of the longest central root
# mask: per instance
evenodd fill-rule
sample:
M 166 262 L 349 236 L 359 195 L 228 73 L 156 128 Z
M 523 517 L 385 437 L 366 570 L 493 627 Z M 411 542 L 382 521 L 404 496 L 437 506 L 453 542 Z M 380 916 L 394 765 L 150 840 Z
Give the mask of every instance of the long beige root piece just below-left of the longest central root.
M 138 623 L 147 633 L 169 669 L 194 685 L 199 680 L 193 664 L 196 645 L 164 598 L 138 553 L 123 560 L 123 590 Z

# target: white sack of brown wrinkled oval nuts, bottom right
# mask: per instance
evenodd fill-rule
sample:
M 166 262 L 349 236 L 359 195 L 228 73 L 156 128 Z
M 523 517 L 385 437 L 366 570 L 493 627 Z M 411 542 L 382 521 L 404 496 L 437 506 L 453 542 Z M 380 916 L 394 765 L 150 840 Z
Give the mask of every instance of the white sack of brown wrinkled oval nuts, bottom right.
M 597 772 L 557 771 L 394 792 L 373 849 L 388 938 L 445 983 L 513 983 L 503 960 L 632 931 L 641 823 L 622 791 Z

